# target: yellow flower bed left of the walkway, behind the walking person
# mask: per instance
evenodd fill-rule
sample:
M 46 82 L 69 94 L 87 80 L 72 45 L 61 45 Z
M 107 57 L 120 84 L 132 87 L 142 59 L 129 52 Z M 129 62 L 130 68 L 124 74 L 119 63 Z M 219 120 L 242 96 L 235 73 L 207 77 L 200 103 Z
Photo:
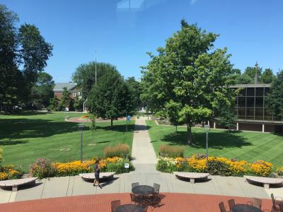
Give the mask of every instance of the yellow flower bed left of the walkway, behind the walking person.
M 96 158 L 84 160 L 83 163 L 80 160 L 69 163 L 51 163 L 49 160 L 40 158 L 30 167 L 30 174 L 39 179 L 54 176 L 74 176 L 80 173 L 92 172 L 95 162 Z M 129 163 L 129 168 L 125 168 L 125 163 Z M 116 174 L 134 170 L 134 166 L 129 162 L 129 159 L 119 157 L 100 159 L 99 167 L 100 172 L 116 172 Z

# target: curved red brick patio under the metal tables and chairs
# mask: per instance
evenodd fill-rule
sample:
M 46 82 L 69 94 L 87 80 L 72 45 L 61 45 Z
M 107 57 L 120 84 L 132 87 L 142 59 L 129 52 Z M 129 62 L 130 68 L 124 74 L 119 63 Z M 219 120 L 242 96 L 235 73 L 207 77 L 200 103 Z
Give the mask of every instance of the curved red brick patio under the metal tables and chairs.
M 158 208 L 149 207 L 147 211 L 194 211 L 207 212 L 219 211 L 219 202 L 235 199 L 236 204 L 246 204 L 250 198 L 238 196 L 202 195 L 202 194 L 174 194 L 162 193 L 163 199 Z M 1 212 L 93 212 L 111 211 L 110 202 L 120 199 L 121 204 L 130 204 L 129 193 L 123 194 L 96 194 L 84 196 L 69 196 L 32 201 L 18 201 L 10 204 L 0 204 Z M 270 211 L 272 201 L 262 199 L 262 210 Z

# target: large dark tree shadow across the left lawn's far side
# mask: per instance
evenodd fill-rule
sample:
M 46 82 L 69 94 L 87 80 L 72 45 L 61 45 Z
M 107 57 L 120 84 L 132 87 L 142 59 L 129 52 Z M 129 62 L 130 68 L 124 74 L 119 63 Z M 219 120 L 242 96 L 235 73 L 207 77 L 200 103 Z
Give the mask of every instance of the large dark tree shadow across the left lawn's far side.
M 88 129 L 85 126 L 83 131 Z M 11 143 L 16 142 L 13 139 L 48 137 L 75 131 L 79 132 L 79 123 L 48 119 L 0 119 L 0 139 L 10 139 Z

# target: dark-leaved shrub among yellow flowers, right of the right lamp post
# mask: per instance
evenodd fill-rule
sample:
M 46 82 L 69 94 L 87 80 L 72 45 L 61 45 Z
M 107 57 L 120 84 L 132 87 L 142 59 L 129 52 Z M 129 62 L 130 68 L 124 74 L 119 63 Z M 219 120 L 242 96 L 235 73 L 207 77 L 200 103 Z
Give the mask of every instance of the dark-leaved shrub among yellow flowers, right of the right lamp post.
M 210 175 L 221 175 L 221 176 L 232 175 L 231 170 L 229 170 L 229 165 L 219 160 L 209 160 L 207 172 L 209 172 Z

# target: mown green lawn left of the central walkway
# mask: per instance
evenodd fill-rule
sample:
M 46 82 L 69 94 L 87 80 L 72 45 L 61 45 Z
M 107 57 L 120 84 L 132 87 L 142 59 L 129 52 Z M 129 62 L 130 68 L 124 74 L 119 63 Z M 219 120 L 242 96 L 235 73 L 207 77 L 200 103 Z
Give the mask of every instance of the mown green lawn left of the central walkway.
M 69 117 L 79 117 L 82 114 L 67 113 Z M 0 115 L 0 147 L 3 148 L 4 164 L 28 166 L 36 158 L 48 158 L 52 161 L 67 162 L 80 158 L 80 133 L 78 123 L 65 122 L 64 112 L 31 113 L 19 115 Z M 117 143 L 127 143 L 132 149 L 134 121 L 128 125 L 125 132 L 125 121 L 96 123 L 95 141 L 89 130 L 90 123 L 83 131 L 83 158 L 103 156 L 105 146 Z M 69 151 L 62 149 L 69 148 Z

